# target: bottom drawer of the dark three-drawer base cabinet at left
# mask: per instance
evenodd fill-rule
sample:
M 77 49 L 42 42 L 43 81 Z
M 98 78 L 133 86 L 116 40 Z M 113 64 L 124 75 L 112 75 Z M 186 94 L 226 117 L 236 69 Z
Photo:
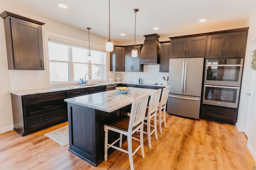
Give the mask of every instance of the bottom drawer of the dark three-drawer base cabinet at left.
M 46 127 L 64 121 L 65 119 L 67 119 L 66 109 L 31 117 L 25 119 L 26 131 L 37 130 L 38 128 Z

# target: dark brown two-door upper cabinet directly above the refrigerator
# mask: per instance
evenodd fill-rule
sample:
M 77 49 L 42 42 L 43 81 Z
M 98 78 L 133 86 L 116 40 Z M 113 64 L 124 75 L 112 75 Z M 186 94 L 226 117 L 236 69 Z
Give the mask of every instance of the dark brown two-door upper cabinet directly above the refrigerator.
M 170 58 L 204 57 L 206 36 L 170 38 Z

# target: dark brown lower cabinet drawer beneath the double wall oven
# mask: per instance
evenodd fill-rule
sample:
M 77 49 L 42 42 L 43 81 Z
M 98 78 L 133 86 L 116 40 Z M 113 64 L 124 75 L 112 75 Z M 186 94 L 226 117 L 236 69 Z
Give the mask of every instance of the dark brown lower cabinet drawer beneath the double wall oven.
M 202 105 L 200 119 L 235 125 L 237 114 L 237 109 Z

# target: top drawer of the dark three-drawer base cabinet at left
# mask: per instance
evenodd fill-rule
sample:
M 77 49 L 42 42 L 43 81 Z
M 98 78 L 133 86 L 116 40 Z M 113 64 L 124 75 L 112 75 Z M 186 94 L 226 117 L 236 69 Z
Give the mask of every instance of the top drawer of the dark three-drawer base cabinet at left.
M 49 101 L 54 99 L 64 99 L 65 91 L 58 91 L 52 93 L 42 93 L 38 95 L 29 95 L 23 97 L 23 104 L 37 103 L 41 101 Z

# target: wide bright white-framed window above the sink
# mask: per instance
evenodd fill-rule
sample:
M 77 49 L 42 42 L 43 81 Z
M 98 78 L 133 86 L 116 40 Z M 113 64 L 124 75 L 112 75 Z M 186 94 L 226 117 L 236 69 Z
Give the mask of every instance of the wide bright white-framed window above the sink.
M 50 83 L 77 82 L 89 73 L 92 80 L 104 80 L 106 77 L 106 52 L 90 49 L 82 44 L 66 40 L 48 40 Z

